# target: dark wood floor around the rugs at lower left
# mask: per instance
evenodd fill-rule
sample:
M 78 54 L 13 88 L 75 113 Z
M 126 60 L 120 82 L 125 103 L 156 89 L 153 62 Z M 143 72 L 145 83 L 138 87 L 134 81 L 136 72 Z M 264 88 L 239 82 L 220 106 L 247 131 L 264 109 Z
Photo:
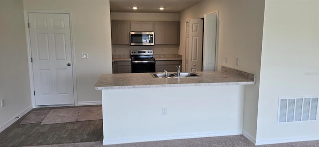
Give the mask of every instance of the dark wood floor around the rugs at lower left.
M 35 108 L 31 111 L 73 107 L 81 106 Z M 0 133 L 0 147 L 53 145 L 103 140 L 102 120 L 47 125 L 40 125 L 40 123 L 19 125 L 26 115 Z

